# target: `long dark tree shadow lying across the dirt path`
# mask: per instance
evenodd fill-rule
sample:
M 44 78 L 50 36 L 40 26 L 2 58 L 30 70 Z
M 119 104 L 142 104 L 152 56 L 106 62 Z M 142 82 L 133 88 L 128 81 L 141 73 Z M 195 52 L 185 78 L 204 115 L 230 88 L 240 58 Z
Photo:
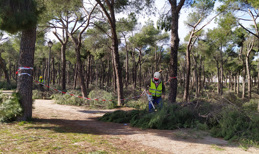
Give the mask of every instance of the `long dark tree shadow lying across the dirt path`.
M 133 135 L 137 138 L 140 134 L 148 134 L 153 136 L 169 139 L 169 141 L 184 141 L 198 144 L 216 144 L 229 146 L 228 141 L 212 138 L 208 132 L 204 131 L 191 131 L 190 129 L 178 130 L 157 130 L 146 129 L 141 130 L 136 127 L 131 127 L 129 123 L 109 123 L 98 121 L 97 118 L 91 117 L 89 120 L 66 120 L 66 119 L 36 119 L 33 122 L 37 124 L 50 124 L 54 126 L 34 126 L 27 127 L 28 129 L 38 130 L 52 130 L 58 133 L 83 133 L 95 135 Z M 231 147 L 233 147 L 231 145 Z M 236 146 L 235 146 L 236 147 Z

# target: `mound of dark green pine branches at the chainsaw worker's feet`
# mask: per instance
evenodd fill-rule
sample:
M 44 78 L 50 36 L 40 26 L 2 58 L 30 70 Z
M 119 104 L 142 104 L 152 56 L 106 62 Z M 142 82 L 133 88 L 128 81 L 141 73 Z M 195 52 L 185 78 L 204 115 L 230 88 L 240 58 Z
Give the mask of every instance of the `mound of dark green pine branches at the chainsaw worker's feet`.
M 130 122 L 131 126 L 141 129 L 190 128 L 197 121 L 189 108 L 178 105 L 164 106 L 154 113 L 148 113 L 146 110 L 129 112 L 118 110 L 113 113 L 106 113 L 99 120 L 115 123 Z

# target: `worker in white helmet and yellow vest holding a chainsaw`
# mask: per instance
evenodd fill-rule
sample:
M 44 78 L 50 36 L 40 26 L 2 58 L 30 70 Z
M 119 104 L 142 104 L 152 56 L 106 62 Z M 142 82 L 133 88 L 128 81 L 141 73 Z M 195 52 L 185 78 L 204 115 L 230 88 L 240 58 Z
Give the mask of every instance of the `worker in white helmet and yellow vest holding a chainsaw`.
M 146 83 L 144 83 L 144 87 L 147 93 L 152 94 L 154 98 L 154 102 L 158 104 L 159 107 L 163 106 L 162 98 L 165 98 L 165 84 L 160 78 L 160 73 L 155 72 L 154 77 L 149 79 Z M 149 111 L 152 111 L 153 106 L 149 101 Z

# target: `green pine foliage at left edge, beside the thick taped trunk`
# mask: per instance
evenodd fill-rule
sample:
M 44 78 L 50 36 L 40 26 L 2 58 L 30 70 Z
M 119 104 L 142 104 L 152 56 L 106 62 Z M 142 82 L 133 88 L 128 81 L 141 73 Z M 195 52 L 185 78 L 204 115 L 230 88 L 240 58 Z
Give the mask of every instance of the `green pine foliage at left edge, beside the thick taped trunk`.
M 0 122 L 15 120 L 16 116 L 23 114 L 23 107 L 20 104 L 21 95 L 13 92 L 11 98 L 0 93 Z

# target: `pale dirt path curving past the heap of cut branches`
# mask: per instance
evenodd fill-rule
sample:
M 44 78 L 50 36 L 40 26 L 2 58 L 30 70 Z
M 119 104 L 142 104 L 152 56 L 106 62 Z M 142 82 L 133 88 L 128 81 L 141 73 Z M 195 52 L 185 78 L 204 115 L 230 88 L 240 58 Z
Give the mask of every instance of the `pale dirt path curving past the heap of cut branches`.
M 95 134 L 116 135 L 125 141 L 136 141 L 139 146 L 147 146 L 173 154 L 248 154 L 259 153 L 259 149 L 250 148 L 244 151 L 228 141 L 212 138 L 207 132 L 188 129 L 181 130 L 141 130 L 130 127 L 130 124 L 106 123 L 96 120 L 112 110 L 89 110 L 83 107 L 55 104 L 53 100 L 35 100 L 33 117 L 83 130 Z M 127 109 L 127 108 L 126 108 Z M 221 149 L 221 150 L 220 150 Z

